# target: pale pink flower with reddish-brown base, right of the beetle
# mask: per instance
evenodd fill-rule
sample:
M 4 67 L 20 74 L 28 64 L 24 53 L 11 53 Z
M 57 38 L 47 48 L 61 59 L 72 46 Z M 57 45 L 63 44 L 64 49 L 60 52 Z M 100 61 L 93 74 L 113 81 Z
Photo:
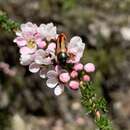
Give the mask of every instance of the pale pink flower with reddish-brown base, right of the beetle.
M 82 39 L 78 36 L 73 37 L 68 43 L 67 49 L 69 54 L 68 63 L 77 63 L 83 56 L 85 44 Z

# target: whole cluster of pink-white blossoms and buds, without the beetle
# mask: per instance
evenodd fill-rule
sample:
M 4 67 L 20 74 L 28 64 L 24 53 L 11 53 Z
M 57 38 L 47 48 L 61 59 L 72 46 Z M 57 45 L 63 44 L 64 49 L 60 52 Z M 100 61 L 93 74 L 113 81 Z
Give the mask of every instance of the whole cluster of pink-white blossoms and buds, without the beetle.
M 47 78 L 46 84 L 54 89 L 55 95 L 60 95 L 64 87 L 77 90 L 81 81 L 90 81 L 89 74 L 95 71 L 95 66 L 80 63 L 85 43 L 79 36 L 74 36 L 65 44 L 67 59 L 63 65 L 57 58 L 60 34 L 53 23 L 37 26 L 28 22 L 21 25 L 16 35 L 14 42 L 20 48 L 20 63 L 29 65 L 30 72 L 39 72 L 41 78 Z

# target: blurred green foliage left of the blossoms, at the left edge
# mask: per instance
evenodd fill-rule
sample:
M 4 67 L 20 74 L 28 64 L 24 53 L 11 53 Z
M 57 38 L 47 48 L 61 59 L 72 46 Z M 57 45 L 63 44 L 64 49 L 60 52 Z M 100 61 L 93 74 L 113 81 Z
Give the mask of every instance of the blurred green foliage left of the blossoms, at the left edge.
M 19 28 L 20 24 L 9 19 L 6 13 L 0 11 L 0 28 L 7 32 L 15 31 Z

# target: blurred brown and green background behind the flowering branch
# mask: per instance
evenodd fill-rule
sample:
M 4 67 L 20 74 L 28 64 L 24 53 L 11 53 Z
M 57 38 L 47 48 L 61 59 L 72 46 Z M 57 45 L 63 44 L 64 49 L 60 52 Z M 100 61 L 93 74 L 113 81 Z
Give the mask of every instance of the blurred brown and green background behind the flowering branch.
M 96 65 L 94 85 L 114 130 L 130 130 L 130 0 L 0 0 L 0 10 L 21 23 L 53 22 L 67 37 L 81 36 L 82 61 Z M 0 130 L 94 130 L 80 92 L 54 96 L 20 65 L 14 37 L 0 30 Z

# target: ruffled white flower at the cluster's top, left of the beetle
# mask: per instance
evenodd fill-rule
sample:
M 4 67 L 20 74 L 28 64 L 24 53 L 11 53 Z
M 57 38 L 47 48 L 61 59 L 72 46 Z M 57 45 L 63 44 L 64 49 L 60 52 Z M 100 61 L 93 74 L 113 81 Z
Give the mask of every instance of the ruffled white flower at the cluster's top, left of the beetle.
M 53 23 L 41 24 L 38 28 L 38 32 L 42 38 L 46 38 L 47 40 L 55 39 L 57 36 L 56 27 Z

